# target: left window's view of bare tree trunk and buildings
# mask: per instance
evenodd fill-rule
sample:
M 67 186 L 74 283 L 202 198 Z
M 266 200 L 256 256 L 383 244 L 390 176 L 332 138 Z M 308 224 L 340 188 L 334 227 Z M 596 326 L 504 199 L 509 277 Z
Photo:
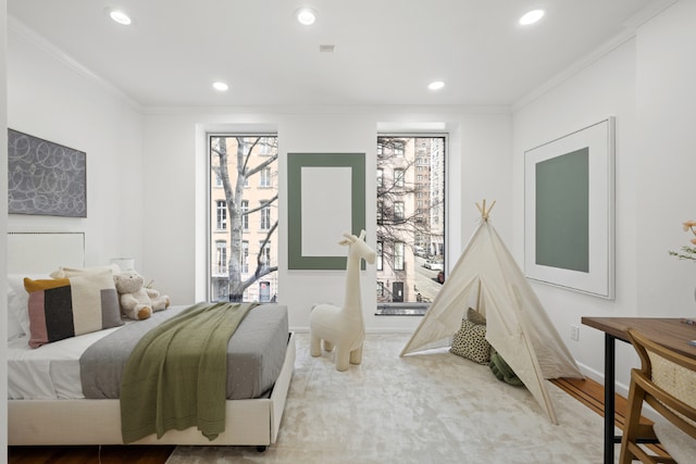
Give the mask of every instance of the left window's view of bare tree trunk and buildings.
M 211 135 L 210 242 L 225 273 L 211 272 L 214 300 L 270 301 L 277 296 L 277 137 Z M 254 180 L 249 181 L 252 178 Z M 220 227 L 222 225 L 222 227 Z M 250 248 L 250 243 L 256 244 Z

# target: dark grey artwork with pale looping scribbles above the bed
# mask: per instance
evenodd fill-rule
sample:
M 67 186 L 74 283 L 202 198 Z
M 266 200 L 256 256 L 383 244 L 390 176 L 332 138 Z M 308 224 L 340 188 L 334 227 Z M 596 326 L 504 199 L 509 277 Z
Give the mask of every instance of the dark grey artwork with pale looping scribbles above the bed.
M 8 212 L 87 217 L 87 155 L 8 129 Z

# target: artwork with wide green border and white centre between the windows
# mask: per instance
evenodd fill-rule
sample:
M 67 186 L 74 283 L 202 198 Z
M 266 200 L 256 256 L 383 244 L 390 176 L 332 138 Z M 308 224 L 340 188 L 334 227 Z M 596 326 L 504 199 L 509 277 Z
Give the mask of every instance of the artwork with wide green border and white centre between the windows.
M 288 268 L 345 269 L 338 241 L 365 228 L 364 153 L 288 153 L 287 165 Z

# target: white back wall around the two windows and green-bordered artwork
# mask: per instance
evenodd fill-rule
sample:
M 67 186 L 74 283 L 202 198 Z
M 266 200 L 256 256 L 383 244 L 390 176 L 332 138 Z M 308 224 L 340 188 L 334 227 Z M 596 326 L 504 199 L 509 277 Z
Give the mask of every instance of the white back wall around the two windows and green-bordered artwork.
M 167 181 L 145 187 L 146 211 L 158 210 L 162 230 L 145 230 L 145 264 L 157 276 L 158 288 L 174 302 L 204 299 L 206 227 L 206 130 L 277 130 L 279 145 L 279 256 L 278 301 L 289 309 L 290 326 L 307 329 L 309 311 L 318 302 L 343 302 L 345 273 L 289 271 L 287 268 L 287 181 L 288 152 L 364 152 L 366 168 L 376 166 L 377 128 L 413 129 L 440 123 L 439 131 L 450 134 L 448 221 L 452 230 L 449 264 L 459 256 L 473 231 L 477 210 L 474 202 L 497 199 L 494 213 L 502 230 L 509 228 L 511 190 L 507 179 L 510 148 L 510 116 L 506 109 L 471 112 L 451 108 L 254 108 L 208 111 L 163 111 L 145 122 L 145 168 L 158 171 Z M 196 176 L 191 175 L 196 173 Z M 375 177 L 366 179 L 368 242 L 375 243 Z M 460 199 L 462 199 L 460 201 Z M 506 206 L 506 203 L 508 205 Z M 321 228 L 321 224 L 316 227 Z M 504 236 L 506 234 L 502 234 Z M 196 243 L 196 247 L 194 247 Z M 362 298 L 368 330 L 411 331 L 414 317 L 375 317 L 374 266 L 362 274 Z

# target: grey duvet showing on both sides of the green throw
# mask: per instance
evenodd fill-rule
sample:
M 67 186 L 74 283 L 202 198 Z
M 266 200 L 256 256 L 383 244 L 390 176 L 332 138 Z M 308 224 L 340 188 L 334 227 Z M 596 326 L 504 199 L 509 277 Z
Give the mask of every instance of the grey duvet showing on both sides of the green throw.
M 85 398 L 117 399 L 128 355 L 149 329 L 188 306 L 172 306 L 126 324 L 89 347 L 79 359 Z M 261 304 L 244 318 L 227 344 L 227 399 L 268 394 L 277 378 L 288 341 L 287 308 Z

